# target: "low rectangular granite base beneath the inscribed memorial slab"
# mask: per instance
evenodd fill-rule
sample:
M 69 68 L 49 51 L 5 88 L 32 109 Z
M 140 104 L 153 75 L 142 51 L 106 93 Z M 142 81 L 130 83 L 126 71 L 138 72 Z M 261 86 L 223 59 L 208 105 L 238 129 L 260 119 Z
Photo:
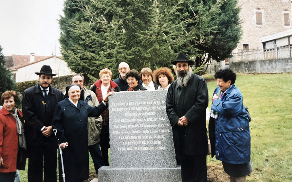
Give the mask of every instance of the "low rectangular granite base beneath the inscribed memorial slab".
M 181 167 L 175 168 L 110 168 L 98 169 L 99 182 L 179 182 Z

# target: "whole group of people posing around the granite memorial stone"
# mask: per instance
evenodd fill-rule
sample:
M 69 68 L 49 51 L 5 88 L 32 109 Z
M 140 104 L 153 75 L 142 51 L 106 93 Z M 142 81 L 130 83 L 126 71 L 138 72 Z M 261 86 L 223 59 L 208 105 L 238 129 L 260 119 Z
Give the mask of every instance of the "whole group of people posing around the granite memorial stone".
M 182 181 L 207 182 L 207 84 L 192 73 L 193 61 L 184 53 L 179 53 L 172 64 L 176 80 L 169 68 L 153 73 L 143 68 L 139 73 L 130 70 L 126 62 L 118 66 L 119 78 L 112 80 L 111 70 L 105 68 L 90 89 L 84 87 L 83 75 L 75 74 L 65 95 L 50 86 L 55 74 L 50 66 L 44 65 L 36 73 L 39 83 L 23 92 L 23 112 L 15 108 L 16 92 L 4 92 L 0 110 L 1 181 L 14 181 L 16 169 L 25 168 L 26 157 L 29 182 L 57 181 L 58 145 L 63 153 L 65 179 L 70 182 L 88 179 L 88 152 L 96 173 L 101 166 L 109 165 L 109 96 L 118 91 L 168 90 L 166 112 Z M 236 74 L 232 70 L 219 70 L 215 78 L 218 87 L 212 98 L 213 119 L 209 122 L 212 156 L 222 161 L 232 182 L 245 181 L 252 168 L 249 120 L 242 94 L 235 87 Z M 62 173 L 59 160 L 60 181 Z

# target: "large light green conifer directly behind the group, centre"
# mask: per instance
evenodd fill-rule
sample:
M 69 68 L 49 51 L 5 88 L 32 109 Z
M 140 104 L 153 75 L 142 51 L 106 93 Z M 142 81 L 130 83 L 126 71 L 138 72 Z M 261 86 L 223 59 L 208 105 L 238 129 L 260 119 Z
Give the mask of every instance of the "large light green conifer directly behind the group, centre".
M 66 0 L 60 18 L 61 51 L 69 67 L 97 77 L 105 67 L 118 76 L 131 69 L 170 66 L 178 52 L 202 57 L 214 38 L 222 2 L 203 0 Z M 204 45 L 206 44 L 206 45 Z

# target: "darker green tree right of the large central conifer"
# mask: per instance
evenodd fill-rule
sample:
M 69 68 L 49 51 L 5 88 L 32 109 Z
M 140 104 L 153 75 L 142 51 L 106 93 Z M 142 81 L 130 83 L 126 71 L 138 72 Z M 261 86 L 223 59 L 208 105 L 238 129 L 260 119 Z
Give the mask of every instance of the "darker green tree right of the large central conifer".
M 237 47 L 242 37 L 239 12 L 236 7 L 237 0 L 226 0 L 221 2 L 220 11 L 209 22 L 209 27 L 216 27 L 208 32 L 206 36 L 211 36 L 209 42 L 196 45 L 200 50 L 196 57 L 196 67 L 206 64 L 210 59 L 217 62 L 231 56 L 232 50 Z

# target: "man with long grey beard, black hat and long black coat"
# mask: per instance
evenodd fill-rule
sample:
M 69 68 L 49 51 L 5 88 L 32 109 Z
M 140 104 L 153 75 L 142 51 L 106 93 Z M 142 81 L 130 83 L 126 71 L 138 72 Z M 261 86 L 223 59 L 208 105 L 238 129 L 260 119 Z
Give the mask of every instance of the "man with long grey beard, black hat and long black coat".
M 176 65 L 177 79 L 170 85 L 165 102 L 182 181 L 207 182 L 207 83 L 192 73 L 193 61 L 186 54 L 179 53 L 172 64 Z

